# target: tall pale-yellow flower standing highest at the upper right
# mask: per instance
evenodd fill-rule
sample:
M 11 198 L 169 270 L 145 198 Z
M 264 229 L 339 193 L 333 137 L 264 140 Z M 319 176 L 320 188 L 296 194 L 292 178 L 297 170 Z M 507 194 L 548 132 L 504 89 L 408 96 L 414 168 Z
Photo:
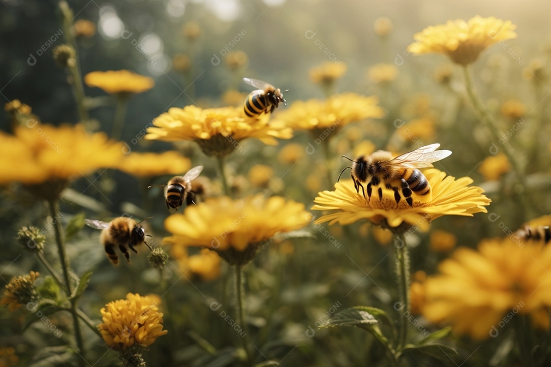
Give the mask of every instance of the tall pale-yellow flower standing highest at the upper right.
M 464 21 L 449 20 L 446 24 L 430 26 L 415 34 L 408 51 L 414 54 L 441 53 L 461 65 L 476 61 L 480 52 L 494 43 L 516 38 L 516 25 L 510 20 L 477 15 Z

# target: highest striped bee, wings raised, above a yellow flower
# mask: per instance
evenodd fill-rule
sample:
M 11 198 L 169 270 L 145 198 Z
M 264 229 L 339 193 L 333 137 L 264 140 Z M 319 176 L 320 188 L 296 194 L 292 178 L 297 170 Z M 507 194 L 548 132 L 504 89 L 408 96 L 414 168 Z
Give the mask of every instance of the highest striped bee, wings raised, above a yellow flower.
M 272 84 L 258 79 L 243 78 L 243 80 L 253 87 L 260 88 L 250 92 L 245 100 L 244 109 L 247 116 L 253 117 L 259 116 L 262 112 L 273 112 L 280 102 L 287 106 L 287 101 L 283 99 L 283 93 L 279 88 L 276 89 Z

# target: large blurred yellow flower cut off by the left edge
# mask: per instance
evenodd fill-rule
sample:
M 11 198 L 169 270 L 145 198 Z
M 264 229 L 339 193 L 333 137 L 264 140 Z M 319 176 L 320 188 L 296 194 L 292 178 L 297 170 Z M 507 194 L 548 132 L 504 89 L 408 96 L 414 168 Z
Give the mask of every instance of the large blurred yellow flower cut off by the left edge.
M 116 165 L 124 156 L 122 143 L 104 133 L 88 134 L 82 125 L 33 123 L 16 127 L 14 134 L 0 132 L 0 183 L 69 180 Z

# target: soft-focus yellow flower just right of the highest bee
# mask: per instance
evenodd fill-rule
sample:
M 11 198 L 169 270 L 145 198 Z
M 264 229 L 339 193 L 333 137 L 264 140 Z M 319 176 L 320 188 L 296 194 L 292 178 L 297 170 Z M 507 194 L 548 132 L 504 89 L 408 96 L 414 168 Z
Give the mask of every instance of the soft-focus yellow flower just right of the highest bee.
M 333 130 L 367 118 L 380 118 L 385 112 L 377 105 L 375 97 L 364 97 L 355 93 L 333 95 L 325 101 L 296 101 L 279 112 L 277 121 L 282 121 L 294 130 Z M 316 136 L 317 138 L 317 136 Z

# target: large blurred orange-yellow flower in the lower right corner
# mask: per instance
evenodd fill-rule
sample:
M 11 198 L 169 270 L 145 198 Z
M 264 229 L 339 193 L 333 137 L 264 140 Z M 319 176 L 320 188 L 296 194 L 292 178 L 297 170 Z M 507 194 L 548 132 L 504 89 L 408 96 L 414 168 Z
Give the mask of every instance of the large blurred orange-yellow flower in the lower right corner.
M 551 246 L 507 237 L 480 243 L 478 251 L 460 248 L 425 282 L 423 315 L 451 324 L 458 334 L 485 339 L 499 332 L 498 323 L 513 310 L 542 319 L 551 306 Z

